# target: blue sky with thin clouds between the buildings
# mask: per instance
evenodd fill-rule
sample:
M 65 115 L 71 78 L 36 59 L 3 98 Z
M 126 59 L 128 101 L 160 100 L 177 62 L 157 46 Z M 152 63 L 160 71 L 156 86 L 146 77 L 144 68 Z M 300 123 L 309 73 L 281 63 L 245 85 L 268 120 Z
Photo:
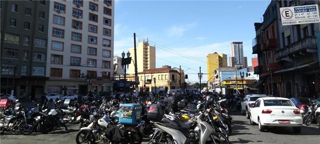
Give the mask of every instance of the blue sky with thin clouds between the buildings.
M 230 56 L 232 41 L 244 42 L 251 66 L 254 23 L 261 22 L 270 0 L 116 0 L 114 55 L 148 38 L 156 47 L 156 67 L 170 65 L 187 70 L 197 82 L 199 67 L 206 73 L 206 55 Z M 169 52 L 171 51 L 171 52 Z M 183 55 L 183 56 L 181 56 Z M 190 57 L 191 56 L 191 57 Z M 189 57 L 189 58 L 188 58 Z M 203 75 L 206 81 L 207 76 Z

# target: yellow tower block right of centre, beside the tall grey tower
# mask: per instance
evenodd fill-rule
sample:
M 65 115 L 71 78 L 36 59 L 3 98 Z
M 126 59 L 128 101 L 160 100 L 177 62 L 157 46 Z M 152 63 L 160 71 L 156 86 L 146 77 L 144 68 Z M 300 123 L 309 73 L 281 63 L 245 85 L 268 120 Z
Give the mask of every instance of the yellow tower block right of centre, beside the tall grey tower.
M 210 86 L 210 81 L 213 81 L 214 71 L 219 67 L 226 67 L 227 65 L 226 54 L 215 52 L 207 55 L 208 86 Z

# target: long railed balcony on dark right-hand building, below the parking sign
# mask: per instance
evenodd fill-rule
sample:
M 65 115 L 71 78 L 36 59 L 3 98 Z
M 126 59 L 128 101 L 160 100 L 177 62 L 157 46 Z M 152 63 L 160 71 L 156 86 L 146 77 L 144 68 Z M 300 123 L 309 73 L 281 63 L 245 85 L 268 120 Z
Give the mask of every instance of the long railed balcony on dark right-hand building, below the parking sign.
M 307 48 L 318 48 L 317 39 L 315 36 L 309 36 L 295 43 L 287 46 L 286 48 L 281 49 L 276 53 L 276 59 L 280 59 L 288 56 L 289 54 L 298 53 L 301 50 L 307 50 Z

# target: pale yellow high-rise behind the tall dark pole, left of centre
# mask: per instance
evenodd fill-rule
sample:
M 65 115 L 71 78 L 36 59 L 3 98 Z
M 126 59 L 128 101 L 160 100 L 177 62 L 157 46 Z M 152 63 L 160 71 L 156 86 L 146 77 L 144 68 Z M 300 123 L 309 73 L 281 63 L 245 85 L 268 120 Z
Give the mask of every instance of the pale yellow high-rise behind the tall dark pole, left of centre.
M 134 48 L 129 48 L 132 60 L 134 60 Z M 138 72 L 155 69 L 155 47 L 149 45 L 148 41 L 140 42 L 137 46 L 137 68 Z M 134 73 L 134 64 L 131 62 L 127 73 Z

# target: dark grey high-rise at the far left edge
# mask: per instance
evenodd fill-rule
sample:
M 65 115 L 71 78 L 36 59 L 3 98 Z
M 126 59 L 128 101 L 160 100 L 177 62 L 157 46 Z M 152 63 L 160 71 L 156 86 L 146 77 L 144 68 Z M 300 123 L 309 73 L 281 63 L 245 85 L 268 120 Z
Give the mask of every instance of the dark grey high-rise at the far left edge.
M 2 94 L 35 99 L 44 93 L 49 4 L 48 0 L 0 0 Z

